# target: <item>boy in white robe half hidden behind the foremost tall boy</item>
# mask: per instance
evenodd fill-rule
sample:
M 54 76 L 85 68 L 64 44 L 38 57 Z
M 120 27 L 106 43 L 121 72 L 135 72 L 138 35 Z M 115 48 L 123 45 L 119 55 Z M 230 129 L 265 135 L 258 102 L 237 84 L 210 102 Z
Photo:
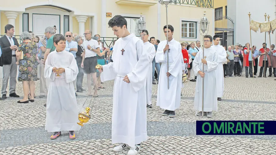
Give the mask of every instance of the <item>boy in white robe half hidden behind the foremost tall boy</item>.
M 147 93 L 147 107 L 152 108 L 151 104 L 151 90 L 152 90 L 152 60 L 155 57 L 155 47 L 148 41 L 148 30 L 143 30 L 141 33 L 142 40 L 144 42 L 143 49 L 148 52 L 149 57 L 149 70 L 147 75 L 146 93 Z

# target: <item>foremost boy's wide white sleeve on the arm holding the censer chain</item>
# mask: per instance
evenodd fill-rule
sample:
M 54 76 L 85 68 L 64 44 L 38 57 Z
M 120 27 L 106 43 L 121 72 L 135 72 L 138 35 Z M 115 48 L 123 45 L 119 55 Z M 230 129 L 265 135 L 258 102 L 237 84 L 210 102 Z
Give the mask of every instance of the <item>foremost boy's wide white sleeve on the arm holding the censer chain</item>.
M 117 74 L 113 68 L 114 62 L 109 62 L 107 65 L 102 66 L 101 81 L 113 80 L 116 78 Z

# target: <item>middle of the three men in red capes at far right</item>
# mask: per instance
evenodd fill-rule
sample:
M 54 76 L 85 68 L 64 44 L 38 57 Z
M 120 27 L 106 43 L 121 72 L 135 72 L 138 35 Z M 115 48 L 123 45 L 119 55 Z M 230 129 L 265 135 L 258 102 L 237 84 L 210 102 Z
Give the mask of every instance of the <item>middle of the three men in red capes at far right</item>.
M 265 78 L 266 78 L 266 70 L 267 70 L 266 68 L 269 68 L 271 66 L 270 54 L 271 54 L 271 52 L 270 52 L 269 48 L 266 48 L 266 43 L 263 43 L 263 48 L 261 48 L 259 50 L 259 55 L 260 55 L 259 66 L 261 67 L 260 74 L 258 76 L 259 78 L 261 78 L 263 75 L 263 68 L 265 68 L 264 73 L 265 73 Z M 264 55 L 266 55 L 266 57 L 264 57 Z

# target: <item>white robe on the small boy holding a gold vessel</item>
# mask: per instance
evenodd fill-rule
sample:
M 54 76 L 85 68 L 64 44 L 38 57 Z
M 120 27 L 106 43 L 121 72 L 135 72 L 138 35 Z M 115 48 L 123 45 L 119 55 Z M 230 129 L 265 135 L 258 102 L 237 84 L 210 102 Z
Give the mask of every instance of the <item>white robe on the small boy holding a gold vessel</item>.
M 64 68 L 65 72 L 57 77 L 52 71 L 53 67 Z M 45 125 L 48 132 L 80 130 L 77 124 L 79 112 L 73 85 L 78 73 L 77 62 L 72 53 L 55 50 L 48 55 L 44 69 L 44 77 L 50 81 Z

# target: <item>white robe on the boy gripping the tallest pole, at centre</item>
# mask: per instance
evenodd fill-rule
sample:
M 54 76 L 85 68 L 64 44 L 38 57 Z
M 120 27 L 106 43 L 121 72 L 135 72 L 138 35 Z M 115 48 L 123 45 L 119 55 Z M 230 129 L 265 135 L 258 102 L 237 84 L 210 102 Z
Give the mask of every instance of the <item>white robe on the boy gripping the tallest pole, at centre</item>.
M 162 62 L 157 92 L 157 106 L 162 109 L 174 111 L 180 107 L 180 97 L 182 88 L 182 68 L 184 64 L 181 44 L 172 39 L 169 41 L 169 89 L 167 83 L 167 51 L 163 49 L 167 40 L 161 41 L 155 55 L 155 62 Z

